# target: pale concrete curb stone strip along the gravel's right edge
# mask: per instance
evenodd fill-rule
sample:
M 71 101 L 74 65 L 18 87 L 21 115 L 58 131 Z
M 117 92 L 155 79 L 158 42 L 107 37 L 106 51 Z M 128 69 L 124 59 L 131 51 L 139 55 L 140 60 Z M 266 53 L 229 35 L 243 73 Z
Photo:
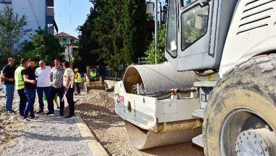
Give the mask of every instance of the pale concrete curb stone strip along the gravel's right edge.
M 105 151 L 101 144 L 97 142 L 88 126 L 83 122 L 78 111 L 75 111 L 75 115 L 76 118 L 74 118 L 74 121 L 76 122 L 79 128 L 80 135 L 87 142 L 93 155 L 108 156 L 109 154 L 107 153 L 107 151 Z

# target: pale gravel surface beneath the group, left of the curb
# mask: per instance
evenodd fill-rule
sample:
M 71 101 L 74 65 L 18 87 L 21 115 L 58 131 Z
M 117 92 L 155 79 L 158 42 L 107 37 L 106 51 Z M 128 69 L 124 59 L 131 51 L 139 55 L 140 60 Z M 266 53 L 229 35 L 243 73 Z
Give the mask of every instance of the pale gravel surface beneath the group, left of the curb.
M 13 108 L 18 109 L 18 94 L 15 92 Z M 0 92 L 0 106 L 3 112 L 5 96 Z M 65 101 L 66 106 L 68 105 Z M 47 102 L 45 102 L 45 110 Z M 55 106 L 56 107 L 56 106 Z M 35 110 L 38 110 L 36 97 Z M 65 112 L 68 108 L 65 109 Z M 17 113 L 0 113 L 0 155 L 93 155 L 74 121 L 55 114 L 22 121 Z M 5 120 L 6 119 L 6 120 Z

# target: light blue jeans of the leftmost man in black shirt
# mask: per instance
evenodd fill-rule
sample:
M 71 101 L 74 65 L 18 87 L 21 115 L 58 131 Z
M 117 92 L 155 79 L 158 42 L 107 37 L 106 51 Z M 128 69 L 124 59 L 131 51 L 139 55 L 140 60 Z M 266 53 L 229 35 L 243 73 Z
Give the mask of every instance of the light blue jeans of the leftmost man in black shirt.
M 12 110 L 14 84 L 4 84 L 3 88 L 4 88 L 4 92 L 6 94 L 6 110 Z

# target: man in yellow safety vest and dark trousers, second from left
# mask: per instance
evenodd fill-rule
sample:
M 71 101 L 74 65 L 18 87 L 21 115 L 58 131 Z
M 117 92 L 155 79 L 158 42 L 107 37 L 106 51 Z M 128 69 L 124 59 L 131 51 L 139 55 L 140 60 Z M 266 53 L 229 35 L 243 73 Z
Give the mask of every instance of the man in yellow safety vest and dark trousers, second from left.
M 28 60 L 23 58 L 20 60 L 20 66 L 14 72 L 15 78 L 15 90 L 19 95 L 19 115 L 23 117 L 24 110 L 27 104 L 27 96 L 24 92 L 24 80 L 22 77 L 22 70 L 24 70 L 28 66 Z

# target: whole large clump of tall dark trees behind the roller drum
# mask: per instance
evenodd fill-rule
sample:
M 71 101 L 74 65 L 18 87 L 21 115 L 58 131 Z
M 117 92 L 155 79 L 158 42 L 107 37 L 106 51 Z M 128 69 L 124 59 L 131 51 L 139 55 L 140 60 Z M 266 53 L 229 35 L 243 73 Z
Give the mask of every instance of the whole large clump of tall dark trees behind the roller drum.
M 90 0 L 86 23 L 78 27 L 79 48 L 74 66 L 105 64 L 117 69 L 145 56 L 147 14 L 145 0 Z M 90 37 L 90 38 L 89 38 Z M 98 64 L 97 64 L 98 63 Z

